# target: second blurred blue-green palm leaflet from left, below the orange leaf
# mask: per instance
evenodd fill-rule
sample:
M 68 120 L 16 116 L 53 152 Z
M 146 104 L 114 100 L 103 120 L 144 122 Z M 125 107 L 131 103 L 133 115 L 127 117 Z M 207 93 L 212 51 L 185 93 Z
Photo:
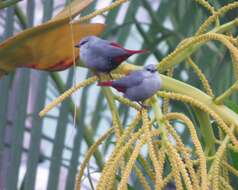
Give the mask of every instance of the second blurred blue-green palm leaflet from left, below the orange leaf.
M 15 190 L 17 189 L 18 175 L 21 162 L 24 128 L 25 128 L 25 117 L 27 108 L 27 99 L 29 91 L 29 70 L 21 70 L 17 75 L 17 82 L 15 83 L 16 92 L 21 92 L 21 96 L 13 96 L 12 102 L 16 106 L 16 110 L 11 110 L 12 117 L 12 131 L 11 131 L 11 149 L 10 149 L 10 162 L 7 175 L 6 189 Z

